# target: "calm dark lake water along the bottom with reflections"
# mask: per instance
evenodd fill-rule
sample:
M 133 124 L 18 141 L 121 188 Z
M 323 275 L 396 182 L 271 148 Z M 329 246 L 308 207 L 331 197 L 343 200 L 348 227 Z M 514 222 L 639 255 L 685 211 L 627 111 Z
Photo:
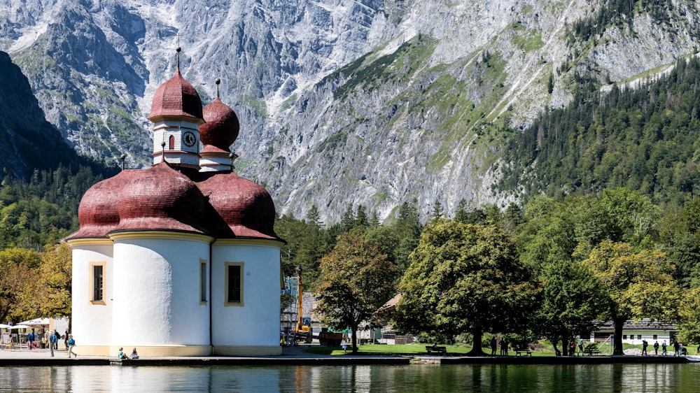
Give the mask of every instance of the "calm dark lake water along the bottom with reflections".
M 698 392 L 700 364 L 0 367 L 0 392 Z

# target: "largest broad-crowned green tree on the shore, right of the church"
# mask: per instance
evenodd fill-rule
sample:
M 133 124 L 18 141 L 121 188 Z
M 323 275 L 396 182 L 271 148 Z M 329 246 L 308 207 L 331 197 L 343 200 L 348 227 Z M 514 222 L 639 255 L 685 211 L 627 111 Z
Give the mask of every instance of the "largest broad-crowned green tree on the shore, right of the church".
M 482 355 L 484 331 L 517 331 L 533 303 L 528 271 L 503 229 L 438 220 L 426 227 L 399 285 L 402 331 L 451 340 L 470 332 Z

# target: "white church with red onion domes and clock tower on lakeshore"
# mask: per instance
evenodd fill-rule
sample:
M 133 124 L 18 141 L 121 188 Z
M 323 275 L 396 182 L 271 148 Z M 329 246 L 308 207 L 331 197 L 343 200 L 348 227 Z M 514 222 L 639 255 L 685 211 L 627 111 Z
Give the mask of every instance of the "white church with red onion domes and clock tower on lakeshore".
M 178 66 L 148 115 L 153 166 L 122 169 L 80 201 L 66 239 L 80 355 L 281 354 L 274 203 L 235 173 L 239 120 L 218 96 L 202 108 Z

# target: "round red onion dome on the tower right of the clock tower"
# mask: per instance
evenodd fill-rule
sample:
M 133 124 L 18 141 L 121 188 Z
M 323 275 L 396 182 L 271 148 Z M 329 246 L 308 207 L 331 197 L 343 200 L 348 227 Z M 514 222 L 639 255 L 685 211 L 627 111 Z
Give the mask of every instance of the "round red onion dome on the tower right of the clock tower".
M 218 97 L 204 106 L 202 113 L 205 121 L 200 126 L 202 143 L 228 151 L 230 145 L 238 138 L 238 132 L 241 129 L 236 113 Z

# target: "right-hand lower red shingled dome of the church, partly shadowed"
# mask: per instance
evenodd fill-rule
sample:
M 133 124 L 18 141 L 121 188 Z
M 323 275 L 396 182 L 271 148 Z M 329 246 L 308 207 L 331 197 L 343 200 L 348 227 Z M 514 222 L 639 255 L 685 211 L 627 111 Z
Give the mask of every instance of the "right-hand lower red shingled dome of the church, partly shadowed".
M 218 173 L 199 186 L 216 213 L 208 219 L 215 236 L 279 240 L 274 233 L 274 202 L 265 187 L 235 172 Z

